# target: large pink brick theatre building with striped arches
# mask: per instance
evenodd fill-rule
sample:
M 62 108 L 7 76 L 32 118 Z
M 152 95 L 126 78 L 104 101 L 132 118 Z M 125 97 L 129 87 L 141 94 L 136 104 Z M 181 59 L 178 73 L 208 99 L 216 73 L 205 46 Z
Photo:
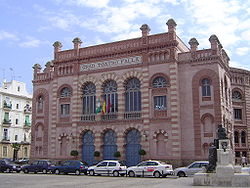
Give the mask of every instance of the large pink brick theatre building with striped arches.
M 198 50 L 195 38 L 189 47 L 182 42 L 176 26 L 170 19 L 166 33 L 149 35 L 144 24 L 140 38 L 89 47 L 75 38 L 70 50 L 55 42 L 54 59 L 44 70 L 33 67 L 31 157 L 62 160 L 77 150 L 92 164 L 94 151 L 100 159 L 119 151 L 127 165 L 142 159 L 179 165 L 207 159 L 219 124 L 233 145 L 231 93 L 241 92 L 240 104 L 249 109 L 243 88 L 249 88 L 250 73 L 242 70 L 248 83 L 238 87 L 215 35 L 211 48 Z M 246 130 L 246 143 L 249 115 L 242 111 L 244 121 L 237 124 Z

